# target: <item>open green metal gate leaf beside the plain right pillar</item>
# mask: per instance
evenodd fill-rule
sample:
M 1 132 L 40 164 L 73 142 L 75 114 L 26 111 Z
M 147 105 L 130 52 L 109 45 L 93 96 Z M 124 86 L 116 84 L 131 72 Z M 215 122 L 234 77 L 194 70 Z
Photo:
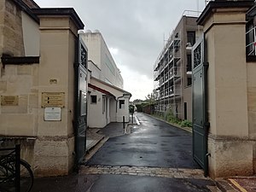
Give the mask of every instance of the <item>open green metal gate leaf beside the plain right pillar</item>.
M 193 158 L 208 174 L 207 68 L 205 41 L 202 37 L 192 49 L 193 62 Z

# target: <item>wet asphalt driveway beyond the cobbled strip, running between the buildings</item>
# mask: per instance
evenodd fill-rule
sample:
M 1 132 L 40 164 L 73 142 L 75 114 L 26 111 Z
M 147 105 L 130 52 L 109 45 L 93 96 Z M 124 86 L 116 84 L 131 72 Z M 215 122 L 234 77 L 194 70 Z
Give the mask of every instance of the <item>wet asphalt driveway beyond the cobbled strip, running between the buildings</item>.
M 191 133 L 143 113 L 137 118 L 141 125 L 130 135 L 109 138 L 88 165 L 200 168 L 192 160 Z

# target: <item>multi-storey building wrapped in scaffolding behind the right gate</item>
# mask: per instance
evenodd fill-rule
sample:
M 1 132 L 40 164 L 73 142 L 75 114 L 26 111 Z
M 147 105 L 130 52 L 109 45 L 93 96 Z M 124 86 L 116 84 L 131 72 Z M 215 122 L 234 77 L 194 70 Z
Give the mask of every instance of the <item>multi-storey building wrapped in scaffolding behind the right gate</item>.
M 191 49 L 201 36 L 197 12 L 186 11 L 154 64 L 156 113 L 172 112 L 178 119 L 192 120 Z

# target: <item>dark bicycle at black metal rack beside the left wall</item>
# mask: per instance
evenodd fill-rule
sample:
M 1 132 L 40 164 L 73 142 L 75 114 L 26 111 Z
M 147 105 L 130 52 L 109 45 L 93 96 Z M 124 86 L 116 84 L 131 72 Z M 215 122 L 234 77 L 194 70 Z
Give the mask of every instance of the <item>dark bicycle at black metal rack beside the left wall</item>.
M 31 191 L 34 177 L 31 166 L 20 159 L 20 145 L 0 148 L 0 152 L 0 192 Z

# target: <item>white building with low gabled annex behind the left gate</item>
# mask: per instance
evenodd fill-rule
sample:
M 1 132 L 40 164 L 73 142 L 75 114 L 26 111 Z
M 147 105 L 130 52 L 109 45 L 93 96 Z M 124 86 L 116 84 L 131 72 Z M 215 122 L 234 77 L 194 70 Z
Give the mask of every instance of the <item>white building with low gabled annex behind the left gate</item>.
M 131 93 L 123 90 L 123 79 L 99 31 L 81 34 L 88 48 L 88 126 L 102 128 L 110 122 L 129 121 Z

